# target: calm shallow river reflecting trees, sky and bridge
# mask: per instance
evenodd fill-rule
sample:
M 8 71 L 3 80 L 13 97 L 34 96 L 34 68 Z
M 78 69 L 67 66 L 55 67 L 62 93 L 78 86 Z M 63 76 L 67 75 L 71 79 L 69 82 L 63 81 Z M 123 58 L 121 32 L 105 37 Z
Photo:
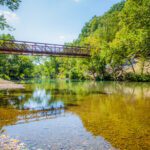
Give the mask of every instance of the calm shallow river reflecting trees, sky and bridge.
M 150 83 L 34 81 L 0 91 L 0 132 L 29 149 L 150 147 Z

